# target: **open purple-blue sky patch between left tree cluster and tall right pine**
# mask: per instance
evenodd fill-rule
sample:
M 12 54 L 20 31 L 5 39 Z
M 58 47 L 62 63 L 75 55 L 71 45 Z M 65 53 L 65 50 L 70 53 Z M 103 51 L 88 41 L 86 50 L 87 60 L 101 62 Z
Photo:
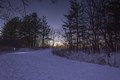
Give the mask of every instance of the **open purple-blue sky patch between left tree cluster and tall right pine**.
M 27 12 L 37 12 L 41 16 L 46 16 L 48 24 L 58 29 L 62 26 L 64 15 L 69 10 L 69 0 L 56 0 L 52 3 L 50 0 L 34 1 L 27 7 Z

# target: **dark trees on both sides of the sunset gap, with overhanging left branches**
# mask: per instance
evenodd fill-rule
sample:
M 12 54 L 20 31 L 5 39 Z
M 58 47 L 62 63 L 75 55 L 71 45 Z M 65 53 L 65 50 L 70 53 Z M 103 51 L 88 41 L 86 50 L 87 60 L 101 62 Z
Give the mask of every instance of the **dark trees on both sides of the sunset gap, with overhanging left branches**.
M 55 0 L 52 0 L 54 3 Z M 55 35 L 46 17 L 37 13 L 28 14 L 26 7 L 29 0 L 21 0 L 23 17 L 1 15 L 5 20 L 0 34 L 0 46 L 11 47 L 49 47 L 50 40 L 62 34 L 70 50 L 101 49 L 109 52 L 120 50 L 120 1 L 119 0 L 70 0 L 69 12 L 63 21 L 62 33 Z M 3 4 L 7 3 L 5 6 Z M 0 0 L 1 14 L 4 11 L 16 11 L 9 0 Z M 7 7 L 6 7 L 7 6 Z M 64 33 L 63 33 L 64 32 Z

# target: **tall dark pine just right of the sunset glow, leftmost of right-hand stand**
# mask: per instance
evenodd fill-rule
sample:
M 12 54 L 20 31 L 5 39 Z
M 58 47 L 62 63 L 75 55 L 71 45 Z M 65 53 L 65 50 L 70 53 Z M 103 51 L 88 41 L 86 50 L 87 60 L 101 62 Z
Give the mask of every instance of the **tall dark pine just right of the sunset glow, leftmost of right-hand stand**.
M 85 35 L 85 26 L 83 21 L 83 6 L 76 0 L 70 1 L 70 12 L 65 15 L 66 22 L 64 22 L 63 29 L 65 30 L 69 48 L 80 49 L 83 47 L 82 41 Z M 84 34 L 84 35 L 83 35 Z

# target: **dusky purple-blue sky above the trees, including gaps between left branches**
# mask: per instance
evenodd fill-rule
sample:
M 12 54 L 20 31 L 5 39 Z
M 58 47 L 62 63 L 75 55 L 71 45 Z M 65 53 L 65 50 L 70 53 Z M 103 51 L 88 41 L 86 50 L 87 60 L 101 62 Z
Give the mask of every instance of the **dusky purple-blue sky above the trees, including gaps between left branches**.
M 18 7 L 23 10 L 21 0 L 10 0 L 13 7 Z M 46 16 L 48 24 L 54 29 L 60 29 L 65 21 L 64 15 L 69 12 L 70 0 L 28 0 L 26 7 L 27 14 L 36 12 L 39 17 Z M 81 1 L 81 0 L 78 0 Z M 23 16 L 23 11 L 11 13 L 13 17 Z M 17 15 L 16 15 L 17 14 Z M 0 20 L 0 26 L 3 26 L 3 21 Z

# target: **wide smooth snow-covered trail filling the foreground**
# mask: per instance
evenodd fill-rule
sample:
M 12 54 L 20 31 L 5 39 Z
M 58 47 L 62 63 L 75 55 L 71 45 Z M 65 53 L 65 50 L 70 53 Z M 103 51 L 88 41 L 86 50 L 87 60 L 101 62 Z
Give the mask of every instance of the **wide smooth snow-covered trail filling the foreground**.
M 57 57 L 51 49 L 36 50 L 1 55 L 0 80 L 120 80 L 120 69 Z

